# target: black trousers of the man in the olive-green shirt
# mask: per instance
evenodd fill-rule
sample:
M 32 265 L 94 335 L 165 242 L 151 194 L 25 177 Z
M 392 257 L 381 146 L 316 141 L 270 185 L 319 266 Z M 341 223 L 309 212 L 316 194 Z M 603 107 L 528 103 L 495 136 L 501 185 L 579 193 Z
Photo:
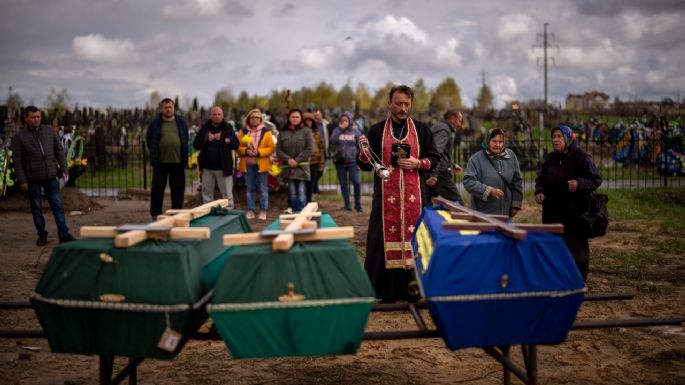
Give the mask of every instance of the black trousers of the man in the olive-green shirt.
M 162 214 L 164 190 L 169 180 L 171 208 L 183 208 L 183 194 L 186 188 L 186 174 L 182 163 L 157 163 L 152 168 L 152 187 L 150 189 L 150 215 L 153 218 Z

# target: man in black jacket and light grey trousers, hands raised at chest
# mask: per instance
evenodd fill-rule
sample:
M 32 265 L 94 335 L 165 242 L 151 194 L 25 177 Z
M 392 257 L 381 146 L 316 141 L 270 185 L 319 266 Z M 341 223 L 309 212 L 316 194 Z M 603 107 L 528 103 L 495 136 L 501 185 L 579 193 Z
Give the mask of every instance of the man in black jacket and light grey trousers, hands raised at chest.
M 195 136 L 193 148 L 200 151 L 198 166 L 202 172 L 202 201 L 214 200 L 214 188 L 219 185 L 221 197 L 233 208 L 233 150 L 238 149 L 235 131 L 224 120 L 220 107 L 212 107 L 210 119 Z

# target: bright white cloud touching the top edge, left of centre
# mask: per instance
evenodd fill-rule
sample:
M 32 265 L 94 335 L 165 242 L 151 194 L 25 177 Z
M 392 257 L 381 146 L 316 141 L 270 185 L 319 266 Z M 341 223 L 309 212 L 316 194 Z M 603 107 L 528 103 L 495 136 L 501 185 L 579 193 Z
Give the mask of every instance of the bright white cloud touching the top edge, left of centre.
M 235 0 L 180 0 L 162 7 L 162 17 L 171 20 L 191 20 L 231 16 L 241 18 L 252 16 L 252 9 Z

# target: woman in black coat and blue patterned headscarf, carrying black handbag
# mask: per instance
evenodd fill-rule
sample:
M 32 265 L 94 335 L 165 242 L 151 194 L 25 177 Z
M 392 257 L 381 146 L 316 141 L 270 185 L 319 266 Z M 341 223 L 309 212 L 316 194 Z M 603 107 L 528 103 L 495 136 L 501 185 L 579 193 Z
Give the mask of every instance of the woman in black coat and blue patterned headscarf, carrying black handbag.
M 590 245 L 580 217 L 589 208 L 590 195 L 602 184 L 602 177 L 567 126 L 552 129 L 552 147 L 554 151 L 545 156 L 535 178 L 535 202 L 542 204 L 542 223 L 564 225 L 564 241 L 587 279 Z

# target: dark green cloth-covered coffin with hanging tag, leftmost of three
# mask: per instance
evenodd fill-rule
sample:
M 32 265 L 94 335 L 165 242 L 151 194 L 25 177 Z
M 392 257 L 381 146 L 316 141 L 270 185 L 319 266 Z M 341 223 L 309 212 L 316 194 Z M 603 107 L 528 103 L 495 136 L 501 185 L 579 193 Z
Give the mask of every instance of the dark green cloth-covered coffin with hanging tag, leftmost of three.
M 157 347 L 162 333 L 168 326 L 187 336 L 206 320 L 201 303 L 211 287 L 203 266 L 224 251 L 224 234 L 251 231 L 240 211 L 198 218 L 191 227 L 210 228 L 211 238 L 126 249 L 92 238 L 55 247 L 31 297 L 52 351 L 174 357 L 185 338 L 171 353 Z M 124 300 L 103 302 L 103 295 Z

